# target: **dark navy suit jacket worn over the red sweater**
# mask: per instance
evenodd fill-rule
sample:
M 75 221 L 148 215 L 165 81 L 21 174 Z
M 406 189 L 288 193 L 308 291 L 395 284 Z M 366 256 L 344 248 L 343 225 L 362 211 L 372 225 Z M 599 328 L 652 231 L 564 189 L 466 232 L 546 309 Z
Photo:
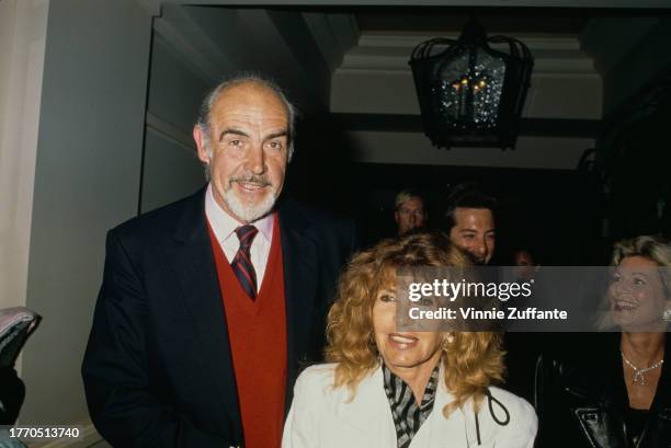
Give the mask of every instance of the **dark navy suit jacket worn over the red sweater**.
M 115 447 L 244 443 L 204 192 L 107 234 L 82 375 L 91 418 Z M 355 239 L 351 222 L 295 203 L 278 215 L 288 409 L 300 365 L 321 356 L 326 310 Z

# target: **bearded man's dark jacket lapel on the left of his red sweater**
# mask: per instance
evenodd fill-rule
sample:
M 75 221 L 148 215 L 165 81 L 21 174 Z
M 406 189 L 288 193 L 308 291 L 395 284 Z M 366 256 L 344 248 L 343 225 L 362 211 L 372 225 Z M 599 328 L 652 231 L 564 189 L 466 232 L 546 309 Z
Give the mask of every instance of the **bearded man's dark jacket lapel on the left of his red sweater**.
M 231 434 L 242 438 L 226 314 L 205 217 L 205 189 L 187 199 L 175 223 L 167 257 L 181 286 L 186 312 L 194 322 L 202 364 L 193 368 L 212 376 L 232 422 Z M 224 422 L 228 424 L 228 422 Z

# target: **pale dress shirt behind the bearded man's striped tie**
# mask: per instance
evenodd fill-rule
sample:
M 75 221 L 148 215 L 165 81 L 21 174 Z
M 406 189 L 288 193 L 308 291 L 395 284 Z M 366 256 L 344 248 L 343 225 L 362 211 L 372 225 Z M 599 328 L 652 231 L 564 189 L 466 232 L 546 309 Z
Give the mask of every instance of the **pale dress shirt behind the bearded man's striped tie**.
M 259 233 L 254 237 L 249 251 L 257 274 L 257 290 L 261 289 L 261 285 L 263 284 L 263 275 L 265 274 L 265 266 L 268 265 L 268 255 L 270 254 L 270 248 L 273 242 L 274 215 L 275 214 L 272 212 L 251 222 L 252 226 L 259 229 Z M 224 211 L 217 204 L 212 193 L 212 184 L 207 185 L 207 193 L 205 194 L 205 216 L 224 251 L 224 255 L 226 255 L 226 260 L 228 260 L 230 264 L 238 249 L 240 249 L 240 241 L 236 234 L 236 229 L 240 226 L 244 226 L 244 223 L 239 222 L 236 218 L 228 215 L 228 212 Z

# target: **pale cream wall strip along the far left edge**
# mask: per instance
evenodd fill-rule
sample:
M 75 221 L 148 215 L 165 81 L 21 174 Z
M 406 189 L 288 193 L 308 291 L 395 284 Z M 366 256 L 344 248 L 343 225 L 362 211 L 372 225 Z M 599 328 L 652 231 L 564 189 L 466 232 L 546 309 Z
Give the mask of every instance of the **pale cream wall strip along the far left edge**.
M 0 1 L 0 308 L 25 306 L 48 5 Z

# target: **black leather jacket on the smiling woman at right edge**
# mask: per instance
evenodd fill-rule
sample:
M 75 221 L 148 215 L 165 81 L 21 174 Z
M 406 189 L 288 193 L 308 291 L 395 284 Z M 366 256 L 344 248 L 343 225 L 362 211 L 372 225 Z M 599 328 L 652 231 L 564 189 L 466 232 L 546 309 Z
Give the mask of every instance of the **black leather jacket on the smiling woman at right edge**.
M 671 363 L 662 365 L 638 444 L 627 441 L 619 333 L 566 334 L 567 352 L 543 357 L 536 376 L 537 448 L 671 447 Z M 671 349 L 667 338 L 664 359 Z

